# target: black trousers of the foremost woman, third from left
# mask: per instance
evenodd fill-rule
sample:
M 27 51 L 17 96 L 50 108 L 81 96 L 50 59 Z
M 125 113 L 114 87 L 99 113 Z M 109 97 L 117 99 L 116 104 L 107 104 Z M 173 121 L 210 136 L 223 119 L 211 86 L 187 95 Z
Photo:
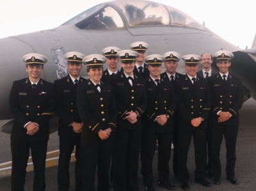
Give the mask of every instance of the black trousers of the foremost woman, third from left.
M 97 168 L 98 191 L 109 191 L 109 166 L 113 145 L 113 132 L 108 139 L 81 140 L 83 158 L 83 190 L 95 191 Z

